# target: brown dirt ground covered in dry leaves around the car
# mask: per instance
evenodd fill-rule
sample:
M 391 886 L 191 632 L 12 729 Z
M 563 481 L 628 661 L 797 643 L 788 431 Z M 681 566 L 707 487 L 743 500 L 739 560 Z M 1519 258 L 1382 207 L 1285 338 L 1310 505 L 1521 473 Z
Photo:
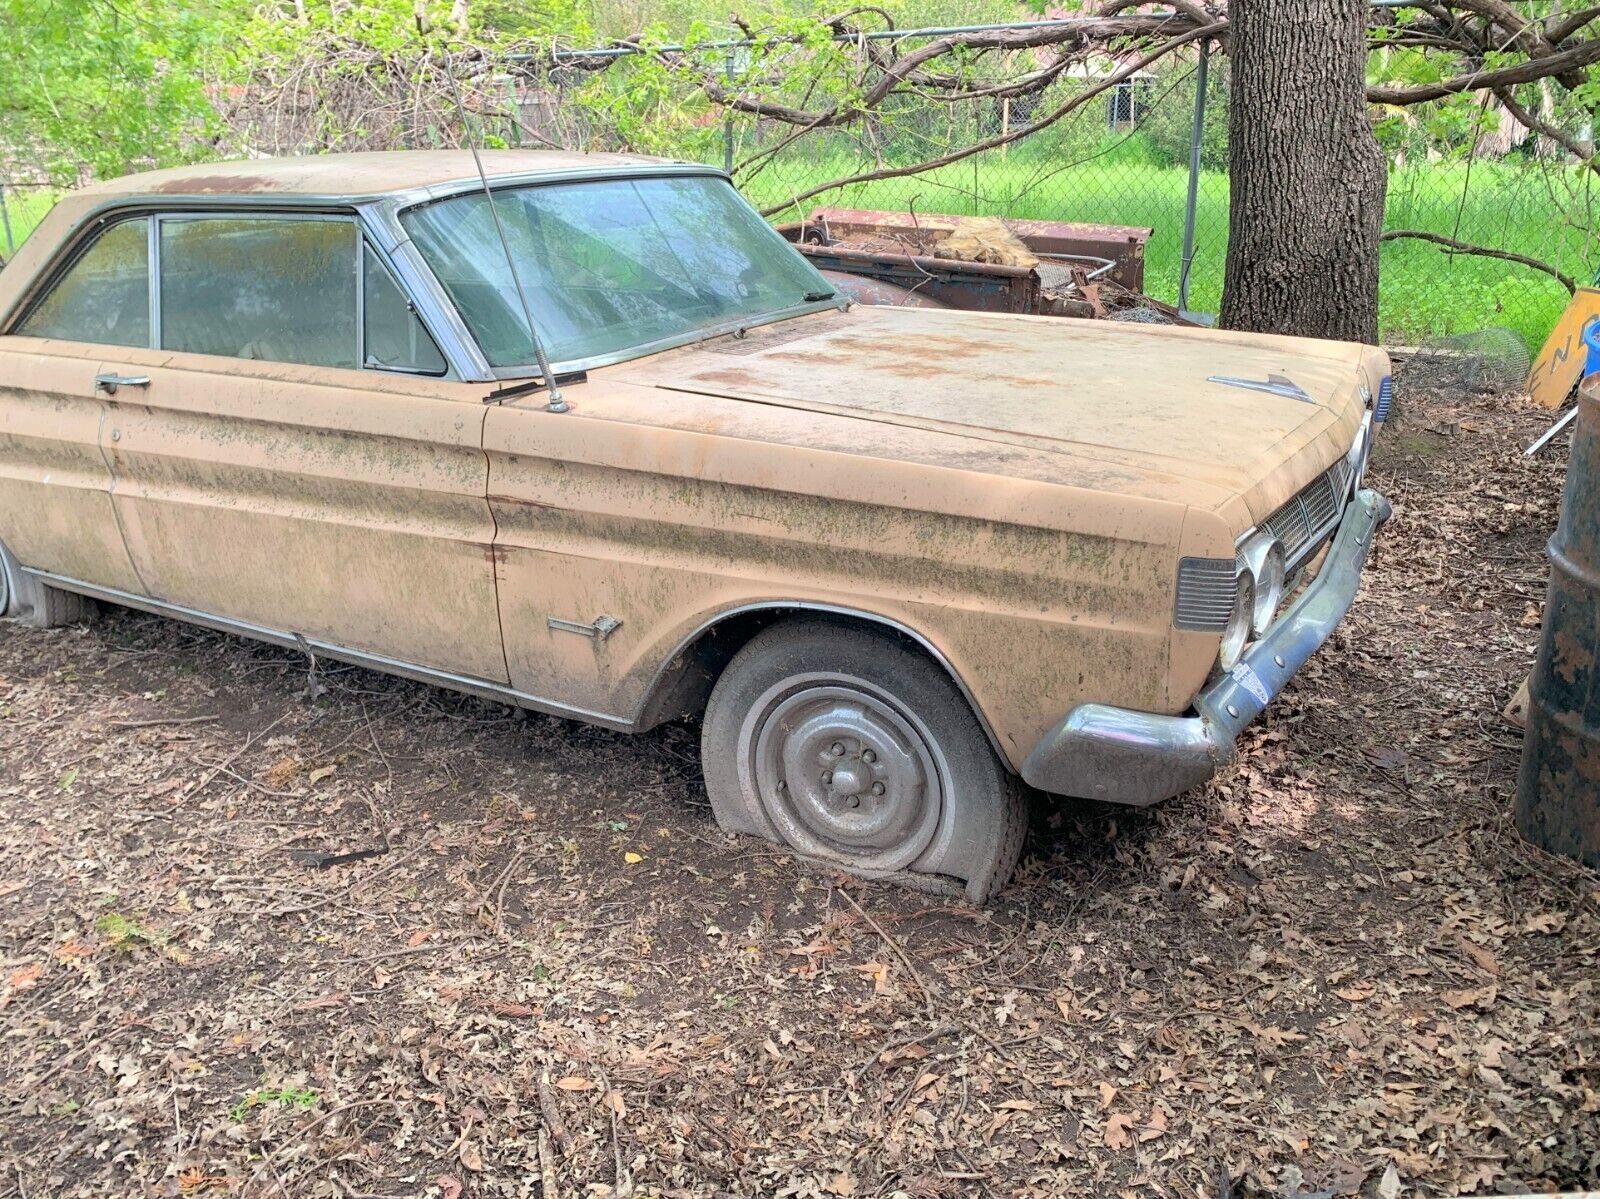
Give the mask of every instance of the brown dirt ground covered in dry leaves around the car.
M 722 836 L 690 727 L 6 628 L 0 1196 L 1600 1186 L 1600 877 L 1518 840 L 1499 714 L 1547 423 L 1403 379 L 1395 519 L 1242 764 L 1040 799 L 982 912 Z

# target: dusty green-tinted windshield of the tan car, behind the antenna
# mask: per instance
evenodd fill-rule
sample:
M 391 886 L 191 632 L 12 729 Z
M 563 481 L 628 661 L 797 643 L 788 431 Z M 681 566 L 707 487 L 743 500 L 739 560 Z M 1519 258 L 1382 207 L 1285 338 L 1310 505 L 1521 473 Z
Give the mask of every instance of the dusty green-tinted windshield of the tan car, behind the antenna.
M 498 189 L 402 224 L 494 367 L 534 362 L 517 279 L 552 362 L 685 338 L 832 296 L 726 179 L 664 176 Z

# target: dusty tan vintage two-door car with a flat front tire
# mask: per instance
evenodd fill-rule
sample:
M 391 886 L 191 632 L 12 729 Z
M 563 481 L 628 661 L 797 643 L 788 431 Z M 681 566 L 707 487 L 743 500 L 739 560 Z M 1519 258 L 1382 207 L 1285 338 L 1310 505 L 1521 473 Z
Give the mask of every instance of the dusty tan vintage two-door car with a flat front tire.
M 0 274 L 3 607 L 699 719 L 725 829 L 982 901 L 1024 780 L 1202 783 L 1352 604 L 1376 349 L 850 306 L 715 170 L 483 171 L 62 198 Z

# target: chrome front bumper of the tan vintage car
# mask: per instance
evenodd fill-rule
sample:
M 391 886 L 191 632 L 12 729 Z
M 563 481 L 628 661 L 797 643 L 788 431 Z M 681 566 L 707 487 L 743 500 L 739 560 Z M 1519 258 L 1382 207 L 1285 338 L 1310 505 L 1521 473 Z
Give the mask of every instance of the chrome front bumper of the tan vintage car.
M 1205 783 L 1234 760 L 1245 725 L 1350 610 L 1373 535 L 1389 512 L 1389 501 L 1376 491 L 1355 493 L 1317 578 L 1232 671 L 1195 696 L 1194 716 L 1080 704 L 1034 746 L 1022 778 L 1040 791 L 1139 807 Z

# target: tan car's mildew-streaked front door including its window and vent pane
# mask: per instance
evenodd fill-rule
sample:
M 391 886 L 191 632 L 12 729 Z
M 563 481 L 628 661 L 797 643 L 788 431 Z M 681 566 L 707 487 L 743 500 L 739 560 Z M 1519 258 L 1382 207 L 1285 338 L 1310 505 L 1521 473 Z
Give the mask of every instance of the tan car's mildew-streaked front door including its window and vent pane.
M 354 215 L 152 221 L 152 347 L 107 359 L 101 442 L 146 594 L 504 684 L 483 389 Z

